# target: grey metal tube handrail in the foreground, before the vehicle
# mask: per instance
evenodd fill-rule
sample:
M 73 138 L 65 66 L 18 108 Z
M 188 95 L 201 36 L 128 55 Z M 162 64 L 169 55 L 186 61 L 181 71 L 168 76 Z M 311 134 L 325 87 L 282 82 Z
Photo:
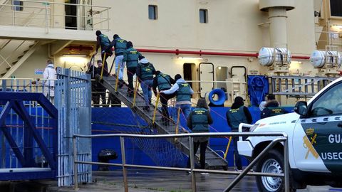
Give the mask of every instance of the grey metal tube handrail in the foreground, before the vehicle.
M 78 161 L 76 148 L 77 138 L 100 138 L 100 137 L 120 137 L 120 148 L 122 163 L 98 163 L 93 161 Z M 240 173 L 237 171 L 219 171 L 219 170 L 207 170 L 207 169 L 195 169 L 195 155 L 190 152 L 190 169 L 189 168 L 173 168 L 165 166 L 144 166 L 125 163 L 125 137 L 137 137 L 137 138 L 176 138 L 176 137 L 188 137 L 190 142 L 190 151 L 193 151 L 193 137 L 277 137 L 273 139 L 267 146 L 260 152 L 260 154 Z M 284 174 L 271 174 L 254 172 L 248 173 L 248 171 L 257 163 L 273 146 L 279 142 L 284 142 Z M 73 134 L 73 169 L 74 169 L 74 188 L 78 189 L 78 164 L 93 164 L 93 165 L 106 165 L 106 166 L 122 166 L 123 167 L 123 183 L 125 192 L 128 192 L 128 179 L 127 168 L 145 168 L 145 169 L 158 169 L 158 170 L 170 170 L 170 171 L 191 171 L 192 176 L 192 191 L 196 191 L 195 172 L 206 172 L 212 174 L 236 174 L 238 175 L 232 183 L 224 190 L 231 190 L 244 176 L 273 176 L 284 177 L 285 191 L 289 192 L 289 147 L 288 147 L 288 135 L 286 132 L 221 132 L 221 133 L 190 133 L 190 134 L 155 134 L 155 135 L 142 135 L 142 134 Z

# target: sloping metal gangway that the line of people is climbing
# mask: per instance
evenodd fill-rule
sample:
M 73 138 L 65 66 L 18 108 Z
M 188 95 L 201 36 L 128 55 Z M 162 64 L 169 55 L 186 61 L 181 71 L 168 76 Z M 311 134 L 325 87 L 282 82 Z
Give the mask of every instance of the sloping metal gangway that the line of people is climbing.
M 99 78 L 99 76 L 98 76 Z M 152 124 L 153 118 L 153 109 L 154 105 L 150 105 L 150 112 L 146 112 L 142 110 L 142 107 L 145 107 L 145 100 L 143 96 L 137 93 L 135 98 L 135 105 L 133 105 L 133 97 L 127 97 L 128 86 L 125 84 L 123 87 L 118 88 L 118 91 L 115 91 L 115 82 L 116 76 L 103 77 L 102 85 L 107 88 L 115 97 L 118 97 L 121 102 L 130 107 L 135 114 L 138 114 L 142 119 L 144 119 L 148 124 Z M 157 110 L 157 114 L 155 116 L 155 123 L 152 126 L 157 129 L 157 132 L 160 134 L 175 134 L 175 122 L 170 121 L 169 125 L 162 124 L 162 112 L 161 110 Z M 183 153 L 189 155 L 189 140 L 188 138 L 179 138 L 175 141 L 175 139 L 168 139 L 169 142 L 174 144 L 178 149 L 180 149 Z M 197 163 L 199 164 L 199 153 L 196 154 Z M 206 151 L 206 164 L 207 169 L 227 169 L 227 161 L 219 156 L 215 151 L 207 147 Z

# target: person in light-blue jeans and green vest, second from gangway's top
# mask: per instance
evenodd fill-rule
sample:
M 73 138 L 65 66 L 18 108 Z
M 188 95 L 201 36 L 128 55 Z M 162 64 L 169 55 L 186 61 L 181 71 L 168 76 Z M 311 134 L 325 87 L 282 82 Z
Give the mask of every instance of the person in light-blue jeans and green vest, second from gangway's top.
M 123 55 L 126 52 L 127 48 L 127 41 L 122 39 L 115 34 L 113 36 L 113 41 L 110 43 L 110 48 L 114 46 L 115 51 L 115 73 L 119 76 L 119 87 L 123 87 L 123 69 L 125 68 L 125 62 L 123 61 Z M 120 65 L 120 71 L 118 71 Z

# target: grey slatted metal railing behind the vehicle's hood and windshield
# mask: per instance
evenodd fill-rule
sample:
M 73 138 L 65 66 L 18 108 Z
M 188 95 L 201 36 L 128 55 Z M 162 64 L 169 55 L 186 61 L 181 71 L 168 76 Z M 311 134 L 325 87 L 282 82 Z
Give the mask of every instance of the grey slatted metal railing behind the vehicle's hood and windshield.
M 269 92 L 288 97 L 313 97 L 336 78 L 307 76 L 269 76 Z

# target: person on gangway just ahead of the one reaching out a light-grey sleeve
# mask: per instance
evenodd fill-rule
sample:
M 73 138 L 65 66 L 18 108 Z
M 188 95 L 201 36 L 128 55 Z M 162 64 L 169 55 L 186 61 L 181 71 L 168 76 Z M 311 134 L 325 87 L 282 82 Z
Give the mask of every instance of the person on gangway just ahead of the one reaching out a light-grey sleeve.
M 170 75 L 161 73 L 159 70 L 155 72 L 155 78 L 153 78 L 153 86 L 152 90 L 157 96 L 157 87 L 159 91 L 168 90 L 172 87 L 172 84 L 175 84 L 175 80 L 170 77 Z M 175 97 L 175 93 L 171 95 L 165 95 L 164 93 L 160 93 L 160 102 L 162 103 L 162 121 L 164 124 L 168 124 L 169 121 L 169 111 L 167 110 L 167 101 L 172 97 Z

